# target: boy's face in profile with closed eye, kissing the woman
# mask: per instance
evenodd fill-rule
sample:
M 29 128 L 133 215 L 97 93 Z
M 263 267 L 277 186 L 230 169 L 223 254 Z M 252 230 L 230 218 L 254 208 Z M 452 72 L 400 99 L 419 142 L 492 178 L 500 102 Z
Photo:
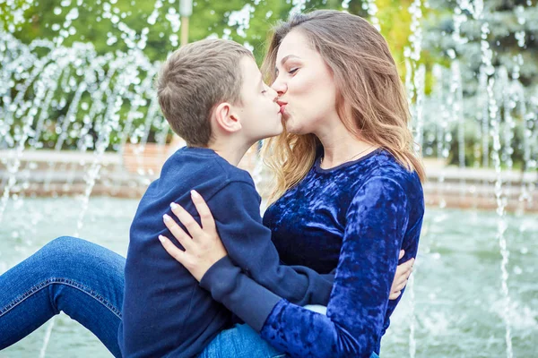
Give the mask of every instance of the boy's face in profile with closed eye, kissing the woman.
M 253 143 L 282 133 L 282 114 L 276 103 L 276 92 L 265 85 L 262 73 L 252 57 L 239 62 L 243 74 L 239 117 L 242 132 Z

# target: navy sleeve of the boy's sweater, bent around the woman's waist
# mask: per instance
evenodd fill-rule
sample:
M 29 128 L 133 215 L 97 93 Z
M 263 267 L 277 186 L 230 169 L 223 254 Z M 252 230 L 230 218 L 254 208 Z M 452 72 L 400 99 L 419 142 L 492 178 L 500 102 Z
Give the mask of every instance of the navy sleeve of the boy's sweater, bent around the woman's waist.
M 231 182 L 208 200 L 231 261 L 248 277 L 291 303 L 326 306 L 334 275 L 282 265 L 271 230 L 262 223 L 260 201 L 254 185 L 245 182 Z M 211 279 L 212 272 L 206 273 L 203 281 Z

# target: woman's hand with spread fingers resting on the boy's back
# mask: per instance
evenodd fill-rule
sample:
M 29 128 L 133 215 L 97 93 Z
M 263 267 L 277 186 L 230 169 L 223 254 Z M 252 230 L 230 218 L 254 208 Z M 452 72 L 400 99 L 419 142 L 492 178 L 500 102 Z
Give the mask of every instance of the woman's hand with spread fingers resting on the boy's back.
M 170 204 L 170 208 L 181 224 L 187 227 L 188 234 L 178 226 L 172 217 L 168 215 L 163 217 L 164 225 L 169 228 L 170 232 L 181 243 L 181 246 L 185 248 L 185 251 L 178 249 L 168 237 L 160 235 L 159 240 L 161 240 L 164 250 L 178 260 L 200 282 L 205 272 L 215 262 L 226 256 L 228 252 L 224 248 L 219 234 L 217 234 L 215 220 L 204 199 L 195 191 L 191 192 L 191 199 L 200 215 L 202 227 L 198 225 L 186 209 L 174 202 Z

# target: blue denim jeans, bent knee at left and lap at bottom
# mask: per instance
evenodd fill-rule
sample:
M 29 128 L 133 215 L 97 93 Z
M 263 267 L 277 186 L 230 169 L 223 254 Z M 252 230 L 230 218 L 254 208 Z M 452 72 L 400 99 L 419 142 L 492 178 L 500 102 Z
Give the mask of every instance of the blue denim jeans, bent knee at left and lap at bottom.
M 64 311 L 120 357 L 125 264 L 125 258 L 100 245 L 64 236 L 5 272 L 0 276 L 0 350 Z M 199 358 L 283 356 L 252 328 L 236 325 L 215 337 Z

